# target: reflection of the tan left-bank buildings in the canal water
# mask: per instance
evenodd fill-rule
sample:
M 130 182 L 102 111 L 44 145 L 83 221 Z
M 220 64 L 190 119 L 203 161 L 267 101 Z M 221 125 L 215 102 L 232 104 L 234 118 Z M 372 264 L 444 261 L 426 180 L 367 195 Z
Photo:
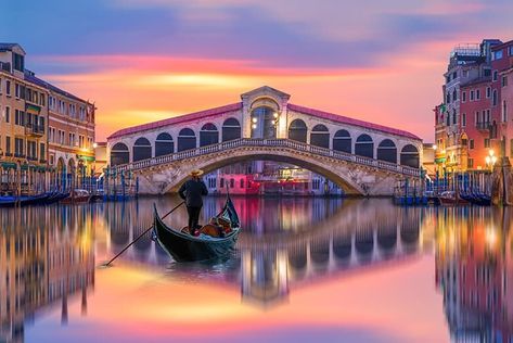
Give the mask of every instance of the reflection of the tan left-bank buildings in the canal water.
M 67 320 L 67 297 L 82 295 L 94 282 L 91 225 L 69 227 L 72 216 L 84 216 L 79 207 L 31 207 L 2 211 L 0 223 L 0 341 L 21 342 L 27 318 L 61 302 Z M 81 218 L 82 219 L 82 218 Z M 3 249 L 5 247 L 5 249 Z

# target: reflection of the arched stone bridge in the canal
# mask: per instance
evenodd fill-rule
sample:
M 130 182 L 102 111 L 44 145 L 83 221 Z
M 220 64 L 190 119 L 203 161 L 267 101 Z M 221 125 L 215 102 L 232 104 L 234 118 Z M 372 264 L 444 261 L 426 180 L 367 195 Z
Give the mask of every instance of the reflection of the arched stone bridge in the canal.
M 217 200 L 207 199 L 206 217 L 216 211 L 216 206 L 210 206 L 210 201 Z M 252 212 L 245 208 L 254 209 L 266 201 L 269 200 L 234 199 L 238 211 L 247 214 L 242 215 L 241 220 L 251 227 L 251 230 L 241 234 L 236 256 L 225 266 L 228 270 L 223 278 L 232 284 L 242 284 L 245 300 L 261 304 L 284 300 L 291 288 L 349 271 L 358 272 L 389 263 L 409 261 L 425 249 L 431 249 L 431 245 L 426 245 L 429 240 L 422 231 L 424 208 L 395 207 L 387 200 L 349 200 L 338 209 L 324 208 L 316 212 L 316 206 L 330 204 L 316 200 L 316 206 L 310 203 L 309 211 L 302 203 L 297 208 L 294 205 L 281 208 L 280 220 L 287 220 L 287 217 L 293 216 L 297 217 L 300 224 L 291 224 L 291 227 L 279 224 L 282 229 L 274 231 L 269 224 L 261 221 L 258 225 L 266 227 L 255 227 Z M 134 206 L 134 203 L 126 205 Z M 274 203 L 266 207 L 275 207 Z M 123 217 L 121 204 L 113 203 L 110 206 L 110 217 Z M 151 212 L 136 215 L 137 211 L 133 208 L 127 209 L 125 213 L 133 215 L 108 225 L 114 249 L 112 254 L 123 249 L 151 221 Z M 275 215 L 269 209 L 267 212 L 269 216 Z M 329 217 L 324 218 L 323 215 Z M 312 218 L 313 221 L 306 218 Z M 291 231 L 291 228 L 298 231 Z M 149 239 L 133 251 L 128 251 L 121 258 L 144 264 L 167 264 L 170 261 Z M 174 269 L 183 269 L 185 275 L 191 272 L 190 266 L 174 265 Z

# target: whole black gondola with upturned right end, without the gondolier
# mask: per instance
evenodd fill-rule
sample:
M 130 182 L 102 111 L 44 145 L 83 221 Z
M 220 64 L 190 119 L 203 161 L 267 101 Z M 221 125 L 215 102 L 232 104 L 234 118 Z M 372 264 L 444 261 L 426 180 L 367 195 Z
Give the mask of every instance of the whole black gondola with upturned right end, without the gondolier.
M 221 212 L 213 219 L 222 219 L 230 224 L 231 232 L 221 238 L 206 234 L 191 236 L 169 228 L 162 220 L 154 205 L 153 237 L 169 255 L 177 262 L 196 262 L 216 259 L 227 256 L 233 251 L 239 237 L 240 221 L 230 198 L 227 199 Z

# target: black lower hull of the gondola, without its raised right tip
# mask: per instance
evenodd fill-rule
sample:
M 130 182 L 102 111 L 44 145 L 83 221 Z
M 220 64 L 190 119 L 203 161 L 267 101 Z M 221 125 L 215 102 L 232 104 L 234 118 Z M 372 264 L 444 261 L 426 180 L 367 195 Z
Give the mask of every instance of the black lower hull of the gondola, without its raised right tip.
M 235 246 L 240 229 L 222 239 L 203 239 L 167 227 L 155 208 L 154 232 L 158 244 L 178 262 L 216 259 L 230 254 Z

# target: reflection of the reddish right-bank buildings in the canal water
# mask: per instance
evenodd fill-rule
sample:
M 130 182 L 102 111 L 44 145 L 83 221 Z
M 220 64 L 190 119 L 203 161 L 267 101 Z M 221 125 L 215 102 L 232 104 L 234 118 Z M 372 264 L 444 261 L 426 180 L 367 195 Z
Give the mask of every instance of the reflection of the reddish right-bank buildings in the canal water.
M 513 243 L 509 209 L 502 224 L 475 208 L 466 219 L 450 223 L 454 211 L 445 208 L 439 214 L 436 251 L 437 284 L 451 335 L 456 340 L 509 342 L 513 338 L 512 304 L 506 297 Z

